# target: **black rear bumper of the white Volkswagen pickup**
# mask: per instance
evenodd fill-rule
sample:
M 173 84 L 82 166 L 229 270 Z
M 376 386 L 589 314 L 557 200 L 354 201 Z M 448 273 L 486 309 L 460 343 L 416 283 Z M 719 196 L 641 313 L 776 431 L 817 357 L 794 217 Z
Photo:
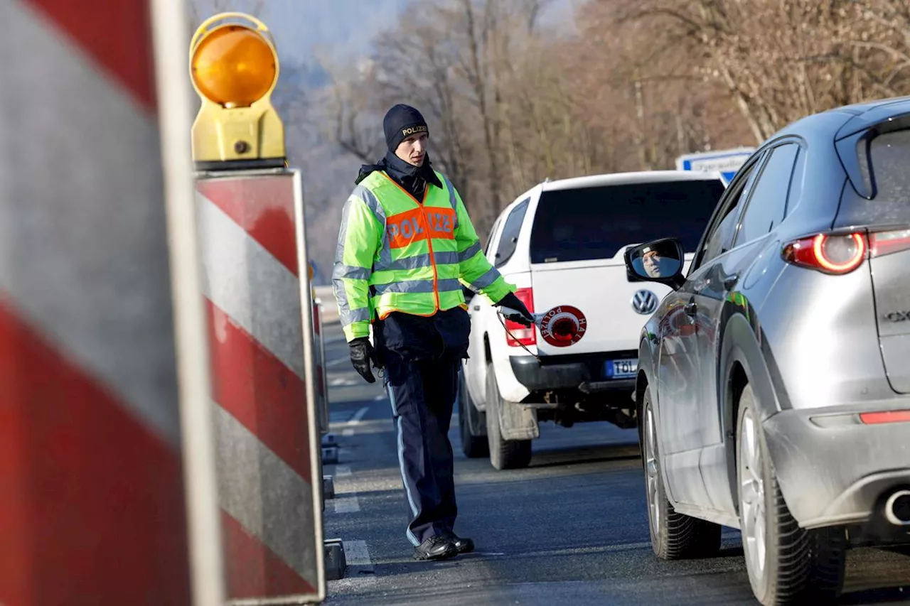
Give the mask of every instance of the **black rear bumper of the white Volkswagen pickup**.
M 621 357 L 624 356 L 614 358 Z M 533 356 L 511 356 L 509 361 L 515 379 L 531 391 L 580 389 L 584 393 L 602 393 L 635 389 L 635 379 L 603 379 L 601 368 L 606 359 L 606 355 L 598 355 L 541 364 Z

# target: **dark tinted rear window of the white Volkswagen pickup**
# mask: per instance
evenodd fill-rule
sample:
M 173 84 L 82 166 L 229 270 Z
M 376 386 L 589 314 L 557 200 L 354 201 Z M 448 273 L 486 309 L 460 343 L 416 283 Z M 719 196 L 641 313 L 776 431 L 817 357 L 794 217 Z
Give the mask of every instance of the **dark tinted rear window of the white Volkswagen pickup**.
M 720 180 L 544 191 L 531 227 L 531 263 L 612 258 L 659 237 L 678 237 L 694 252 L 722 194 Z

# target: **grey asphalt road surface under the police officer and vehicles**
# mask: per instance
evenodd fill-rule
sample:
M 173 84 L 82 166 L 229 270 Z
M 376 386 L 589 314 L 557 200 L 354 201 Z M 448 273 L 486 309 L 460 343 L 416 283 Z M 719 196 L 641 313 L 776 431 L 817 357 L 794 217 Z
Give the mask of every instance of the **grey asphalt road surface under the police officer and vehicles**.
M 326 538 L 344 541 L 349 568 L 329 581 L 326 604 L 475 606 L 529 604 L 755 604 L 739 531 L 720 557 L 657 560 L 648 540 L 635 430 L 609 423 L 541 425 L 526 470 L 497 471 L 456 452 L 455 530 L 477 550 L 450 561 L 411 557 L 389 400 L 351 369 L 338 325 L 327 326 L 331 431 L 339 464 L 327 465 Z M 851 551 L 842 604 L 910 604 L 910 558 Z

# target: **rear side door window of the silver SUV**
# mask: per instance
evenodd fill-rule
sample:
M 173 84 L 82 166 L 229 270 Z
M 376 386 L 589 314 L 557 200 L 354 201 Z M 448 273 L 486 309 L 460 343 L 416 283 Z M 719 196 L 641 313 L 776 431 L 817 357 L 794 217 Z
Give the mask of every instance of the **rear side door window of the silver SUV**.
M 747 200 L 734 247 L 763 237 L 784 220 L 798 151 L 799 146 L 795 143 L 773 147 L 755 182 L 752 196 Z

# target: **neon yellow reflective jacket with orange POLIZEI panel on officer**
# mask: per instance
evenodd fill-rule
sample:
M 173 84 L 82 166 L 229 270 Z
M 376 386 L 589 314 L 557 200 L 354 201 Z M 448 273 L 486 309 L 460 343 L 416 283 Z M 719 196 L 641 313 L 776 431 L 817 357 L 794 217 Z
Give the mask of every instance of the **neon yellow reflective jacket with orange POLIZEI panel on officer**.
M 423 200 L 375 171 L 355 187 L 341 215 L 332 283 L 348 341 L 393 311 L 432 316 L 464 306 L 461 285 L 498 302 L 515 287 L 490 265 L 468 211 L 448 178 Z

